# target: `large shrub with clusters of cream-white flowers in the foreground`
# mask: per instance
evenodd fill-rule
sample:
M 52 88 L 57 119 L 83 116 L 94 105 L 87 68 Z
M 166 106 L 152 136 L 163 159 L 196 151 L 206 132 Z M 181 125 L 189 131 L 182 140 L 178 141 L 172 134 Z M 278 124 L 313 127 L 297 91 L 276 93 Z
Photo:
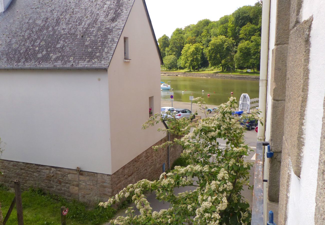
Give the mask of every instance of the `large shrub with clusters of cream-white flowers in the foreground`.
M 203 106 L 201 98 L 195 102 Z M 250 224 L 249 204 L 240 192 L 244 185 L 249 186 L 249 170 L 252 163 L 244 157 L 251 149 L 244 144 L 244 127 L 238 117 L 232 116 L 237 101 L 231 97 L 221 104 L 211 117 L 201 123 L 190 124 L 188 120 L 177 120 L 177 126 L 160 129 L 174 134 L 183 134 L 181 139 L 174 139 L 175 144 L 183 147 L 182 157 L 190 163 L 186 167 L 175 166 L 168 173 L 162 173 L 155 181 L 140 180 L 129 184 L 121 192 L 100 206 L 116 204 L 125 198 L 131 198 L 140 211 L 135 215 L 132 207 L 127 216 L 112 220 L 112 224 Z M 202 107 L 204 110 L 204 107 Z M 255 114 L 244 115 L 247 120 L 258 119 Z M 160 115 L 151 116 L 143 128 L 153 126 L 160 120 Z M 175 120 L 174 120 L 175 121 Z M 167 121 L 168 122 L 168 121 Z M 181 123 L 183 127 L 180 128 Z M 189 130 L 193 129 L 190 133 Z M 221 147 L 217 139 L 226 140 L 226 147 Z M 172 145 L 166 142 L 155 149 Z M 193 186 L 193 191 L 175 194 L 177 187 Z M 152 211 L 145 197 L 146 192 L 155 191 L 157 199 L 171 204 L 169 209 Z

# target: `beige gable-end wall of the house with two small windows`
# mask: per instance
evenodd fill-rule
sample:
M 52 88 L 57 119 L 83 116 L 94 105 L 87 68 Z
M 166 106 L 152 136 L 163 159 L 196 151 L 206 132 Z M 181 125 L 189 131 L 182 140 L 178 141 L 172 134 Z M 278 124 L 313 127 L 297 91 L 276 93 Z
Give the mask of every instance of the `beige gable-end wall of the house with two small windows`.
M 130 62 L 124 62 L 123 37 L 128 37 Z M 112 173 L 166 136 L 157 131 L 162 125 L 141 129 L 149 118 L 149 97 L 154 96 L 154 113 L 160 112 L 155 41 L 143 2 L 135 0 L 108 69 Z

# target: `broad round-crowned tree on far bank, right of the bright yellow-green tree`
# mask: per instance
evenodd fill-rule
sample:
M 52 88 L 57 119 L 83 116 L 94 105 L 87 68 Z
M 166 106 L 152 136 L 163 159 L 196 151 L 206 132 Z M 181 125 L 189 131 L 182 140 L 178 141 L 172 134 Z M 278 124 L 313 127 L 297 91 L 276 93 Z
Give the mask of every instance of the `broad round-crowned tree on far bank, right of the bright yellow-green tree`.
M 218 36 L 212 38 L 209 47 L 206 48 L 205 54 L 211 66 L 221 66 L 224 71 L 229 66 L 229 58 L 234 52 L 234 41 L 232 38 Z

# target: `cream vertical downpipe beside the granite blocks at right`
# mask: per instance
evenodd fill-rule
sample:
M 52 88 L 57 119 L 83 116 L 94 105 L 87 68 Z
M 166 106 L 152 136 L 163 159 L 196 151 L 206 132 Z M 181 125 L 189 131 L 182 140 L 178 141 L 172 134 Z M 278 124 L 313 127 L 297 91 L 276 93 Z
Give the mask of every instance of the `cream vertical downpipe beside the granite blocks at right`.
M 260 69 L 260 90 L 259 90 L 259 115 L 264 120 L 264 126 L 258 122 L 257 140 L 265 141 L 266 126 L 266 96 L 267 96 L 267 73 L 268 73 L 268 53 L 269 53 L 269 32 L 270 32 L 270 2 L 264 0 L 262 5 L 262 35 L 261 35 L 261 69 Z M 265 158 L 265 157 L 264 157 Z M 263 159 L 264 160 L 264 159 Z M 263 169 L 264 179 L 267 179 L 267 160 L 264 160 Z M 267 221 L 267 186 L 263 182 L 263 212 L 264 224 Z

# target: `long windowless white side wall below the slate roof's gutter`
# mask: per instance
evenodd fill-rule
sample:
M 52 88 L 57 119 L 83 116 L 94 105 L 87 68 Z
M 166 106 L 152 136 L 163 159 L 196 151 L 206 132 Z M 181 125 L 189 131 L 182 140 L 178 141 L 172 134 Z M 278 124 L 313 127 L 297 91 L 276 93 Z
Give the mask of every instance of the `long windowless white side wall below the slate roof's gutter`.
M 110 174 L 107 83 L 106 70 L 0 70 L 2 158 Z

